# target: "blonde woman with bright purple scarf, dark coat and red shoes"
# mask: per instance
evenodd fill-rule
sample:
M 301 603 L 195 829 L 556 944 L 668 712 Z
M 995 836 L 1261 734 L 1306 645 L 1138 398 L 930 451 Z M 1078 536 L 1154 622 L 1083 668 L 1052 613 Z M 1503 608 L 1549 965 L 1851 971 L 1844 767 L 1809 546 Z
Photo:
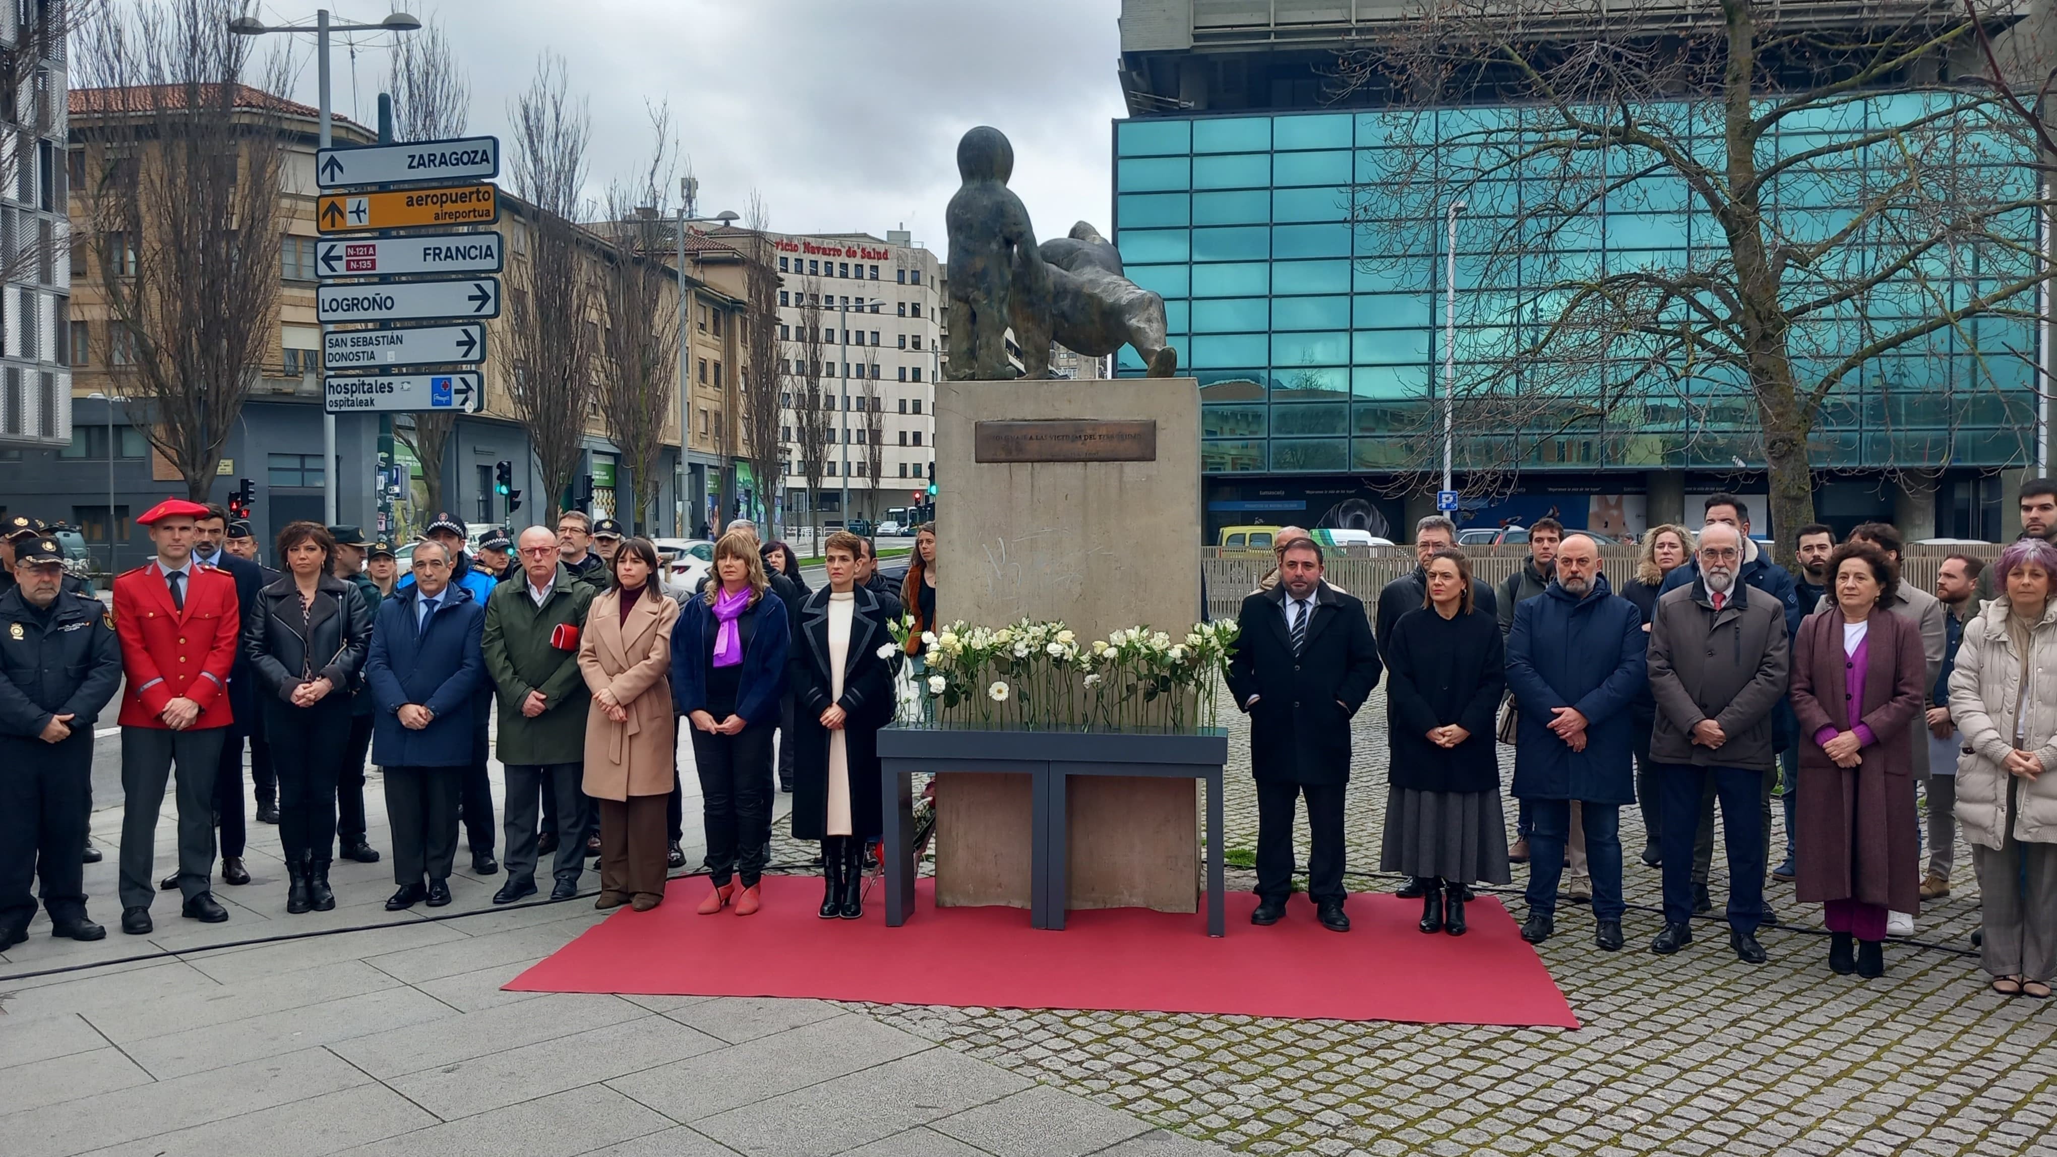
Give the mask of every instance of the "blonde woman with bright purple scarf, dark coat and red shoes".
M 771 731 L 786 694 L 792 626 L 769 591 L 757 539 L 730 531 L 714 544 L 714 576 L 687 601 L 671 636 L 671 694 L 693 727 L 708 877 L 699 904 L 757 912 L 757 879 L 771 852 Z

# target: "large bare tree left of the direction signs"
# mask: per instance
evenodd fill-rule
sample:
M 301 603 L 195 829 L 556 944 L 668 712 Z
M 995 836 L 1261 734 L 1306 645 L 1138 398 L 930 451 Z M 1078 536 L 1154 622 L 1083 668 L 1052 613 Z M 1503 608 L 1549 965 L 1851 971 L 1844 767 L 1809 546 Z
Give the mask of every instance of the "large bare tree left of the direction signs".
M 278 325 L 290 62 L 253 66 L 239 0 L 101 10 L 76 37 L 109 383 L 206 500 Z

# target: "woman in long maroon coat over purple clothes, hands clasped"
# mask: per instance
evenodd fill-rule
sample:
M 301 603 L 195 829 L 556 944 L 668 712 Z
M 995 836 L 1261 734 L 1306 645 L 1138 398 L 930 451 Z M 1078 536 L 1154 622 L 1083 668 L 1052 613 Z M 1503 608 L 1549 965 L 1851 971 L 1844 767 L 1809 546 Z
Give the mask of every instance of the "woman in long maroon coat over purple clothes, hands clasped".
M 1884 552 L 1843 544 L 1829 574 L 1835 605 L 1794 638 L 1802 737 L 1794 887 L 1800 902 L 1827 906 L 1829 968 L 1872 978 L 1886 972 L 1886 912 L 1921 904 L 1907 727 L 1921 714 L 1927 661 L 1919 628 L 1886 609 L 1899 568 Z

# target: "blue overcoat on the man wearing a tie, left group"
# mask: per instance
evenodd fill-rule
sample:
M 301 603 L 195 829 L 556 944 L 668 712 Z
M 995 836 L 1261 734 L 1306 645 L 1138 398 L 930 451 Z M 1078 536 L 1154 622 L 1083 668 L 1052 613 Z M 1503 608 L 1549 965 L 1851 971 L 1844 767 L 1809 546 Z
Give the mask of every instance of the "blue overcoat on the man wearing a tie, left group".
M 372 702 L 372 762 L 381 768 L 471 766 L 471 698 L 485 686 L 485 607 L 450 583 L 420 628 L 422 591 L 407 587 L 378 601 L 372 651 L 364 659 L 364 696 Z M 399 708 L 426 706 L 434 718 L 413 731 Z

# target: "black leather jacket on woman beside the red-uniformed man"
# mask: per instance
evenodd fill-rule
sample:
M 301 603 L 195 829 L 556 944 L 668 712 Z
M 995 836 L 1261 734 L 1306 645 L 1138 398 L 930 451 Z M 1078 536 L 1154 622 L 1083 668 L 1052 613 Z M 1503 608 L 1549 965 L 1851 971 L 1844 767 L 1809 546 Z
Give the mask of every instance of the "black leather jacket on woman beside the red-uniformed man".
M 243 655 L 257 683 L 292 702 L 300 683 L 327 677 L 331 694 L 348 696 L 372 644 L 372 611 L 350 583 L 323 574 L 315 603 L 300 613 L 292 574 L 257 591 L 253 613 L 243 616 Z

